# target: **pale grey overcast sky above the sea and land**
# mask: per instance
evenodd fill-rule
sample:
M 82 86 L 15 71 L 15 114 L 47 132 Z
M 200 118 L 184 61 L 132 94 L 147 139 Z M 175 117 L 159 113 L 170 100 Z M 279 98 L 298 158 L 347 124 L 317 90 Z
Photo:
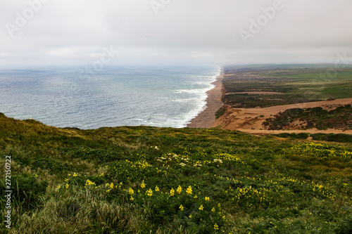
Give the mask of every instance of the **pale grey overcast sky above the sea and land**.
M 0 67 L 334 63 L 352 58 L 351 9 L 351 0 L 1 0 Z

